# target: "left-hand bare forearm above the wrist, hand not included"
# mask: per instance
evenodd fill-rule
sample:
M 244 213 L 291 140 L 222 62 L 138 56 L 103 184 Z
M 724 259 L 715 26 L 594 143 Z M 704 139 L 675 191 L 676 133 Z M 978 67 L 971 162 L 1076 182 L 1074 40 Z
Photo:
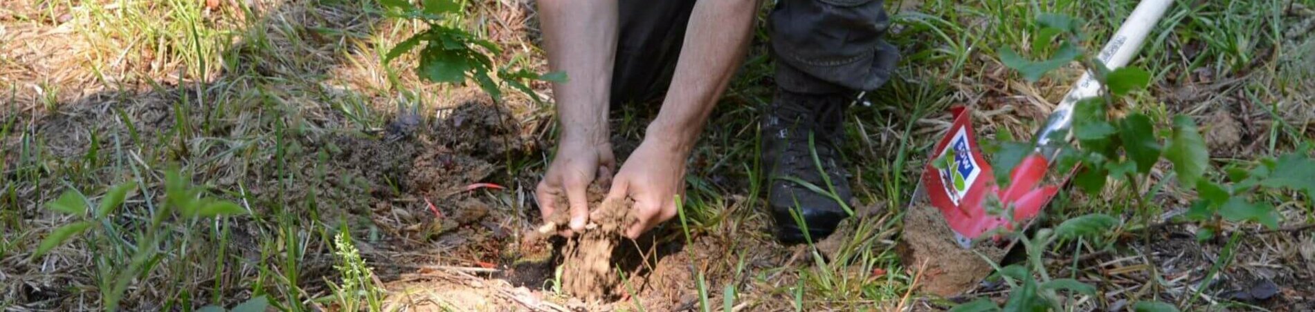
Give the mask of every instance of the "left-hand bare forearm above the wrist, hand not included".
M 538 13 L 548 67 L 569 80 L 552 84 L 562 139 L 606 143 L 617 1 L 540 0 Z

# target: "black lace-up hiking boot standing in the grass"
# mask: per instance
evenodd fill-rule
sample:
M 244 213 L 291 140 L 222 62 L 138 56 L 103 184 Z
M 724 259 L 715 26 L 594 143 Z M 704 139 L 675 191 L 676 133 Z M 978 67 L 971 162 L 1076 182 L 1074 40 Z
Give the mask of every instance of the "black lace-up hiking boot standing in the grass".
M 781 243 L 806 241 L 803 228 L 807 228 L 807 239 L 821 241 L 848 218 L 842 205 L 848 205 L 852 193 L 840 144 L 844 142 L 844 106 L 851 100 L 843 93 L 802 94 L 777 89 L 776 100 L 763 114 L 761 159 L 769 178 L 767 201 Z M 803 227 L 790 215 L 792 210 Z

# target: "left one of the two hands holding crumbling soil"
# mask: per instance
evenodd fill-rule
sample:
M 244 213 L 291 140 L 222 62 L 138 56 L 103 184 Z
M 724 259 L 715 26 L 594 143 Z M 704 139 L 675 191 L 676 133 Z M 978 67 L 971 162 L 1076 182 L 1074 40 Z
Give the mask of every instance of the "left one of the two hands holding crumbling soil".
M 589 222 L 589 184 L 594 178 L 600 184 L 608 184 L 611 172 L 617 168 L 617 159 L 611 155 L 611 144 L 606 140 L 583 140 L 563 136 L 558 146 L 558 153 L 548 165 L 548 172 L 543 174 L 543 181 L 534 191 L 539 202 L 539 212 L 547 220 L 556 212 L 558 198 L 567 197 L 571 211 L 568 231 L 563 236 L 584 229 Z

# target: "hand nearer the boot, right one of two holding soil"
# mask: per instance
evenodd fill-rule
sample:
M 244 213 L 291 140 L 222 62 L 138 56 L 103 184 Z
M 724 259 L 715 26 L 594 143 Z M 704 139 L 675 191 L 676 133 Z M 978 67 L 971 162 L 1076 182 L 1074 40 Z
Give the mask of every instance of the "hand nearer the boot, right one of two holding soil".
M 635 201 L 639 219 L 625 235 L 638 239 L 643 232 L 676 216 L 676 195 L 685 194 L 685 159 L 689 149 L 648 136 L 630 155 L 611 182 L 608 199 Z

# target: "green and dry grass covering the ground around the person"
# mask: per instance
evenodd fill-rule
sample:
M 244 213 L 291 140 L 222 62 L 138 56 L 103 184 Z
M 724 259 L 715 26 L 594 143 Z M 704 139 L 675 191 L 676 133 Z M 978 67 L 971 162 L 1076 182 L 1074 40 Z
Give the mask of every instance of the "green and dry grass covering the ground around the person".
M 379 202 L 408 208 L 422 203 L 406 194 L 401 181 L 371 176 L 360 164 L 341 164 L 343 155 L 360 147 L 335 138 L 368 138 L 408 109 L 433 121 L 441 109 L 455 106 L 471 92 L 419 81 L 405 66 L 414 62 L 410 56 L 381 64 L 380 55 L 421 25 L 385 18 L 373 1 L 220 3 L 208 8 L 205 1 L 183 0 L 20 0 L 0 9 L 0 16 L 8 16 L 0 18 L 0 46 L 8 51 L 0 52 L 0 89 L 8 98 L 0 113 L 0 267 L 5 267 L 0 269 L 0 308 L 101 309 L 117 302 L 130 311 L 191 309 L 233 307 L 255 296 L 267 296 L 272 307 L 289 311 L 335 302 L 350 305 L 345 300 L 370 302 L 377 308 L 376 300 L 397 294 L 363 299 L 333 288 L 345 282 L 343 270 L 333 267 L 341 260 L 335 253 L 346 253 L 334 244 L 339 228 L 347 228 L 343 241 L 359 248 L 362 263 L 376 266 L 383 282 L 392 282 L 388 278 L 397 275 L 381 270 L 388 269 L 383 258 L 394 254 L 385 253 L 392 252 L 388 244 L 405 235 L 393 232 L 372 210 Z M 1315 43 L 1308 35 L 1291 34 L 1293 25 L 1310 21 L 1308 13 L 1290 13 L 1297 12 L 1289 9 L 1294 3 L 1307 12 L 1315 8 L 1310 0 L 1176 4 L 1134 62 L 1155 75 L 1155 87 L 1135 96 L 1135 109 L 1157 122 L 1168 122 L 1174 113 L 1198 119 L 1218 110 L 1237 115 L 1257 143 L 1247 146 L 1247 152 L 1216 159 L 1218 165 L 1310 143 L 1315 109 L 1308 94 L 1315 75 L 1310 67 L 1302 71 L 1301 64 L 1311 62 L 1302 55 L 1311 55 Z M 531 34 L 531 8 L 509 1 L 463 5 L 471 14 L 450 22 L 471 25 L 502 45 L 508 52 L 500 62 L 544 67 Z M 911 4 L 892 1 L 888 7 L 905 5 Z M 767 232 L 769 220 L 761 214 L 764 174 L 757 169 L 756 121 L 759 109 L 772 101 L 772 85 L 763 83 L 772 73 L 761 45 L 768 38 L 760 29 L 744 68 L 714 111 L 719 122 L 709 127 L 690 160 L 684 225 L 665 225 L 681 227 L 684 233 L 667 239 L 689 239 L 688 261 L 701 277 L 696 292 L 700 305 L 751 311 L 945 307 L 935 299 L 903 302 L 918 271 L 901 263 L 893 249 L 901 208 L 932 139 L 945 128 L 943 111 L 952 105 L 999 111 L 974 119 L 980 135 L 1030 135 L 1044 104 L 1063 96 L 1077 68 L 1026 84 L 1003 69 L 997 49 L 1013 47 L 1028 56 L 1049 52 L 1032 43 L 1038 29 L 1030 21 L 1043 12 L 1090 21 L 1085 31 L 1098 45 L 1134 5 L 1124 0 L 928 0 L 892 9 L 896 28 L 890 41 L 905 56 L 894 79 L 868 93 L 871 106 L 851 107 L 851 139 L 844 147 L 859 202 L 884 207 L 884 212 L 857 224 L 857 235 L 831 261 L 810 250 L 796 262 L 769 261 L 775 266 L 755 263 L 772 254 L 764 248 L 776 248 Z M 64 14 L 67 22 L 54 22 Z M 546 92 L 546 85 L 535 88 Z M 526 125 L 543 125 L 527 127 L 534 131 L 530 135 L 554 136 L 551 106 L 515 97 L 506 102 Z M 651 117 L 651 110 L 638 106 L 618 111 L 618 136 L 638 142 Z M 500 166 L 490 180 L 512 189 L 489 195 L 498 203 L 493 210 L 529 215 L 523 212 L 533 210 L 527 198 L 534 177 L 550 157 L 546 149 L 490 160 Z M 208 220 L 167 214 L 159 199 L 167 168 L 175 165 L 208 194 L 231 199 L 252 214 Z M 96 197 L 121 182 L 137 185 L 138 191 L 121 211 L 97 223 L 103 232 L 32 257 L 51 229 L 72 222 L 45 210 L 45 202 L 68 189 L 99 201 Z M 1057 201 L 1047 210 L 1047 219 L 1057 224 L 1099 211 L 1130 223 L 1156 223 L 1143 216 L 1184 208 L 1174 199 L 1191 197 L 1161 184 L 1135 191 L 1105 197 L 1065 191 L 1061 199 L 1072 201 Z M 1168 195 L 1155 201 L 1156 211 L 1130 211 L 1128 203 L 1116 199 L 1157 193 Z M 1315 218 L 1310 198 L 1265 195 L 1289 223 Z M 409 211 L 427 214 L 423 208 Z M 426 219 L 405 220 L 409 225 Z M 1151 233 L 1130 235 L 1140 236 L 1116 241 L 1110 250 L 1141 253 L 1136 252 L 1139 241 Z M 1266 244 L 1290 250 L 1302 240 L 1308 244 L 1308 236 L 1248 236 L 1203 248 L 1252 257 L 1233 250 L 1262 250 Z M 698 245 L 721 250 L 694 250 Z M 476 257 L 448 249 L 430 252 L 437 262 L 468 265 L 467 260 Z M 1074 252 L 1091 250 L 1060 244 L 1045 257 L 1063 260 Z M 1289 267 L 1272 258 L 1248 261 Z M 1128 287 L 1119 283 L 1128 279 L 1126 275 L 1102 277 L 1103 267 L 1076 263 L 1066 263 L 1074 267 L 1069 275 L 1101 281 L 1110 292 Z M 1210 271 L 1233 274 L 1245 263 L 1235 260 Z M 873 274 L 877 270 L 884 274 Z M 1185 284 L 1162 273 L 1155 275 L 1139 281 L 1164 290 Z M 355 278 L 358 284 L 373 284 Z M 112 298 L 114 291 L 109 290 L 121 290 L 122 298 Z M 1193 290 L 1191 298 L 1176 304 L 1199 307 L 1207 302 L 1198 296 L 1218 295 L 1197 284 L 1186 290 Z M 1160 296 L 1140 288 L 1118 294 L 1128 299 Z M 643 304 L 652 308 L 655 303 Z

